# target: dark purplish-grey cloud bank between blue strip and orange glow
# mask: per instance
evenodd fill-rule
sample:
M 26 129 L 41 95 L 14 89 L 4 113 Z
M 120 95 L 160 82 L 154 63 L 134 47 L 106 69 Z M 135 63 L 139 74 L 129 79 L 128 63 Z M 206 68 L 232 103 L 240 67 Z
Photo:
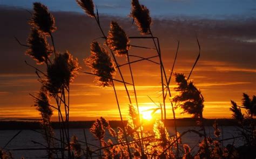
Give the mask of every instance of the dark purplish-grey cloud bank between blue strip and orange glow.
M 1 73 L 29 73 L 24 60 L 29 60 L 23 53 L 26 48 L 19 46 L 14 39 L 17 37 L 24 44 L 30 32 L 27 24 L 30 14 L 24 10 L 0 8 L 1 29 Z M 74 12 L 53 12 L 56 18 L 57 32 L 54 37 L 57 49 L 61 52 L 70 50 L 82 61 L 89 54 L 90 42 L 100 37 L 94 19 Z M 103 30 L 107 32 L 111 20 L 117 20 L 127 34 L 138 35 L 132 19 L 102 16 Z M 239 67 L 255 68 L 255 42 L 246 40 L 256 39 L 256 19 L 235 20 L 172 20 L 154 19 L 152 30 L 161 40 L 163 54 L 173 52 L 176 39 L 181 41 L 181 52 L 190 52 L 184 56 L 193 57 L 197 51 L 196 36 L 203 50 L 204 60 L 228 61 Z M 132 41 L 133 42 L 133 41 Z M 146 45 L 146 43 L 141 43 Z M 191 50 L 191 51 L 189 51 Z M 183 54 L 183 53 L 181 53 Z

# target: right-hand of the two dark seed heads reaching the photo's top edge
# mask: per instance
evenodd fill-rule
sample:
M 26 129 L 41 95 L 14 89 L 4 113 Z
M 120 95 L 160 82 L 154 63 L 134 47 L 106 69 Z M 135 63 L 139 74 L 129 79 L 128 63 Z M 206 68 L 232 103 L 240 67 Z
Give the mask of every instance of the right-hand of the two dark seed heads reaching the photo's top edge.
M 138 0 L 132 0 L 130 17 L 135 20 L 141 34 L 150 34 L 150 25 L 152 24 L 150 11 L 146 6 L 140 5 Z

